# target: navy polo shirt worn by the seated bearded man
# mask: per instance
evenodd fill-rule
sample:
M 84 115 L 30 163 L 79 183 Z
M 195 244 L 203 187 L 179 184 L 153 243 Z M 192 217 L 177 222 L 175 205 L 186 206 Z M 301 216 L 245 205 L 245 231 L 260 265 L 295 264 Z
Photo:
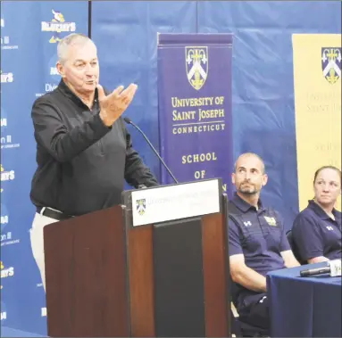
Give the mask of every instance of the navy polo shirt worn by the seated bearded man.
M 259 274 L 286 268 L 281 251 L 291 250 L 284 231 L 283 220 L 276 210 L 263 207 L 258 210 L 242 200 L 238 194 L 229 201 L 229 256 L 242 253 L 248 268 Z M 233 298 L 255 294 L 235 284 Z

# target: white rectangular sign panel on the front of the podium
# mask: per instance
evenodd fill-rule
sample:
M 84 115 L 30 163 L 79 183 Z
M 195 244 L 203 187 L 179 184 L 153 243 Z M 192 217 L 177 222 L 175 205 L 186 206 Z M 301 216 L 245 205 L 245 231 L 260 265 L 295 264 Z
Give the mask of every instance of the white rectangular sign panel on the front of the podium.
M 133 227 L 220 212 L 219 179 L 132 192 Z

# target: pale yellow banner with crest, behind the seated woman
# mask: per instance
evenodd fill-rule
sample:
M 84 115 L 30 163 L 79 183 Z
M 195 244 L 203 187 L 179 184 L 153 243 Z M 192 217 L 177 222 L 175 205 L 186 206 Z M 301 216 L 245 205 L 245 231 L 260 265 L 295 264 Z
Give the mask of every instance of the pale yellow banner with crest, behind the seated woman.
M 341 35 L 294 34 L 299 209 L 313 198 L 313 174 L 341 169 Z M 338 200 L 337 209 L 341 210 Z

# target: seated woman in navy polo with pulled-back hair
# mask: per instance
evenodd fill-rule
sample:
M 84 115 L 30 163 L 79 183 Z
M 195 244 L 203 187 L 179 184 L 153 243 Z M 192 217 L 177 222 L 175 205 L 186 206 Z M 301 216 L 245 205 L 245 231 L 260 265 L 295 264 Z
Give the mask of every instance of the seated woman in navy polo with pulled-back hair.
M 341 193 L 341 170 L 318 169 L 313 178 L 314 198 L 299 213 L 292 228 L 301 260 L 318 263 L 341 259 L 341 212 L 334 208 Z

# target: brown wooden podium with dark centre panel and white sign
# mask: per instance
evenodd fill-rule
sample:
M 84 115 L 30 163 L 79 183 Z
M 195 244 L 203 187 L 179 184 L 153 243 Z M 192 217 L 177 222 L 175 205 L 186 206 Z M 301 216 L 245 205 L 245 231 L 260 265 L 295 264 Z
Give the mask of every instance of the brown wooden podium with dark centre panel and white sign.
M 127 191 L 44 229 L 52 337 L 228 337 L 221 179 Z

